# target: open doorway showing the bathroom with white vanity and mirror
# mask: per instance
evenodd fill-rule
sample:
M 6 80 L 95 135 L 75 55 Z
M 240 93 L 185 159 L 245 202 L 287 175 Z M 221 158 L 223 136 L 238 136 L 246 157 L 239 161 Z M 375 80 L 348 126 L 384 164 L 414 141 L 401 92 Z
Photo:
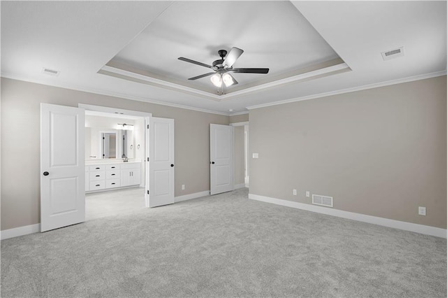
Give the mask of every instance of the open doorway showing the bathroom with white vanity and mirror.
M 145 208 L 145 152 L 144 117 L 85 109 L 85 220 Z

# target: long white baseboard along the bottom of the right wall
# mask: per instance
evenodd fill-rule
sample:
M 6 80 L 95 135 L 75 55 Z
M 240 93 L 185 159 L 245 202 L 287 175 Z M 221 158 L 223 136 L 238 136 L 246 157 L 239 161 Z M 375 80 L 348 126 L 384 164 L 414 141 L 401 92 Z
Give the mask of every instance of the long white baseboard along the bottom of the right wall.
M 349 211 L 342 211 L 338 209 L 332 209 L 327 207 L 315 206 L 310 204 L 302 204 L 296 201 L 287 201 L 284 199 L 275 199 L 271 197 L 264 197 L 258 194 L 249 194 L 249 199 L 256 201 L 263 201 L 266 203 L 277 204 L 281 206 L 287 206 L 291 208 L 302 209 L 305 211 L 312 211 L 316 213 L 322 213 L 326 215 L 337 216 L 339 218 L 346 218 L 349 220 L 357 220 L 359 222 L 367 222 L 374 225 L 382 225 L 384 227 L 393 227 L 395 229 L 403 229 L 405 231 L 416 232 L 420 234 L 426 234 L 430 236 L 437 236 L 447 239 L 447 229 L 441 229 L 439 227 L 430 227 L 427 225 L 418 225 L 411 222 L 402 222 L 400 220 L 390 220 L 388 218 L 379 218 L 372 215 L 365 215 L 361 213 L 353 213 Z

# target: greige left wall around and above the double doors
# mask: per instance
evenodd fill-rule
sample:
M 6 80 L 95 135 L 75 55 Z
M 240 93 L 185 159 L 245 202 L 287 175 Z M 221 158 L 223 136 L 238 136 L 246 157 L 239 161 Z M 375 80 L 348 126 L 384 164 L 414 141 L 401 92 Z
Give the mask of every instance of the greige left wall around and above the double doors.
M 228 116 L 1 78 L 2 230 L 40 222 L 41 102 L 110 106 L 175 119 L 175 196 L 210 190 L 210 123 L 228 125 Z

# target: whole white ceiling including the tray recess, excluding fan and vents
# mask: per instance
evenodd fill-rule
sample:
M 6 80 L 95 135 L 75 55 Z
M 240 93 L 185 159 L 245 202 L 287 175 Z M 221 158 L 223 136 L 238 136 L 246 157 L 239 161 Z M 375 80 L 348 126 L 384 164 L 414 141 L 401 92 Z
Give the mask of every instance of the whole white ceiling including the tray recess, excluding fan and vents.
M 242 113 L 446 74 L 446 15 L 446 1 L 1 1 L 1 76 Z M 207 78 L 186 80 L 209 71 L 177 57 L 211 64 L 233 46 L 245 51 L 235 67 L 270 73 L 235 74 L 238 91 L 223 97 Z

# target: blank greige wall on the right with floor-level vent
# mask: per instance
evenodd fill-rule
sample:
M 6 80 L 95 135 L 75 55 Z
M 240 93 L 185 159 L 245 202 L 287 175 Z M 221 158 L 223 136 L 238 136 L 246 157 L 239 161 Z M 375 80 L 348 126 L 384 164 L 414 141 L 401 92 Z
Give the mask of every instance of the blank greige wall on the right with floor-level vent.
M 250 193 L 445 229 L 446 108 L 441 76 L 252 110 Z

